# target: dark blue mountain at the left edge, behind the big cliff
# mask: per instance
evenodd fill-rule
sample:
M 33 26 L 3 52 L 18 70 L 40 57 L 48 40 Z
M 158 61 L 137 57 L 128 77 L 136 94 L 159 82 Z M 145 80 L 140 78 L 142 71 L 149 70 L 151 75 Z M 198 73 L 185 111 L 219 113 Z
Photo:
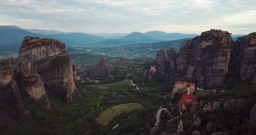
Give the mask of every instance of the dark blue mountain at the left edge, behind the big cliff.
M 26 36 L 39 36 L 40 38 L 46 37 L 46 35 L 36 34 L 21 29 L 18 26 L 0 26 L 0 43 L 13 43 L 17 42 L 21 44 Z

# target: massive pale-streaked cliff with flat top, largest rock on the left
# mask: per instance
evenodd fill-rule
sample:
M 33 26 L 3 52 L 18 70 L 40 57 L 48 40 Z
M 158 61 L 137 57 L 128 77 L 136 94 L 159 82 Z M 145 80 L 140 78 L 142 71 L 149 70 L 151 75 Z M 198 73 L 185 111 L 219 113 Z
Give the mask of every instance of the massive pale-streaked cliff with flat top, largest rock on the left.
M 29 74 L 39 74 L 44 87 L 66 103 L 72 103 L 75 81 L 73 67 L 64 43 L 56 39 L 24 38 L 19 67 Z

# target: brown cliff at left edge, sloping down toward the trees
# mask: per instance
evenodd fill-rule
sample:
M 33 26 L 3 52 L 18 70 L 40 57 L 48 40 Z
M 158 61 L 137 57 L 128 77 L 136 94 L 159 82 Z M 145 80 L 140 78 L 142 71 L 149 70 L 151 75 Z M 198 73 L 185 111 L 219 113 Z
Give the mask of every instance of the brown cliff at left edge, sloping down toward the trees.
M 0 102 L 7 103 L 20 116 L 31 116 L 13 76 L 13 59 L 0 61 Z

